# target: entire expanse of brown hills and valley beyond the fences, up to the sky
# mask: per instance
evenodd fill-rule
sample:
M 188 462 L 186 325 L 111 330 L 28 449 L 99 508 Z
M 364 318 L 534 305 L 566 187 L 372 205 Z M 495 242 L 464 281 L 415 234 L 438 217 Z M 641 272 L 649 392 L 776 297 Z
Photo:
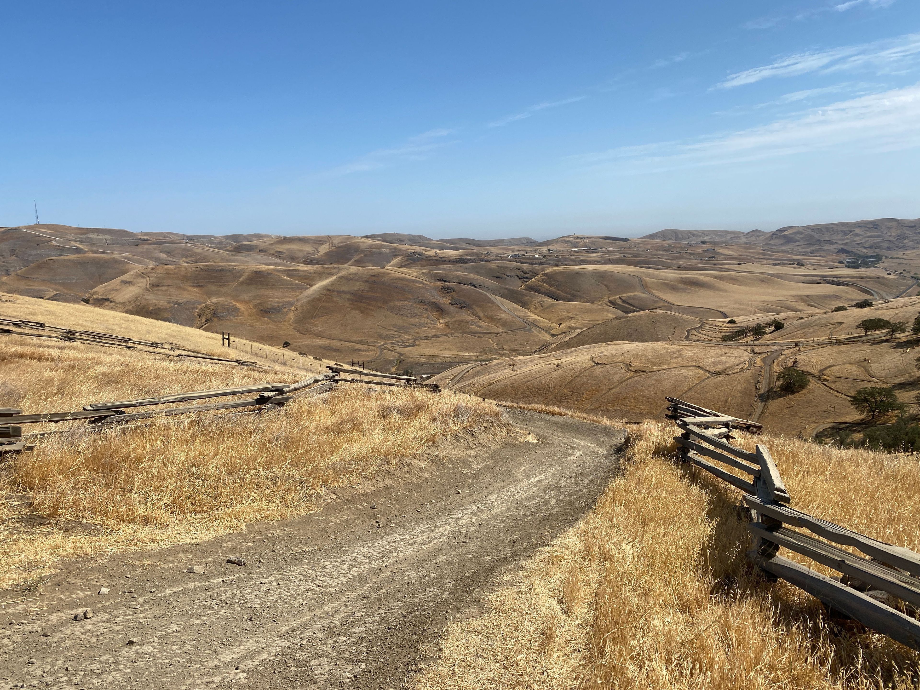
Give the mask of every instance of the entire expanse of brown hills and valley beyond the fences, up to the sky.
M 543 242 L 24 225 L 0 230 L 0 292 L 429 374 L 500 401 L 639 420 L 673 395 L 770 431 L 833 435 L 858 418 L 858 387 L 916 393 L 909 342 L 857 323 L 920 311 L 918 238 L 920 222 L 898 219 Z M 776 320 L 782 330 L 722 339 Z M 815 385 L 777 397 L 793 363 Z

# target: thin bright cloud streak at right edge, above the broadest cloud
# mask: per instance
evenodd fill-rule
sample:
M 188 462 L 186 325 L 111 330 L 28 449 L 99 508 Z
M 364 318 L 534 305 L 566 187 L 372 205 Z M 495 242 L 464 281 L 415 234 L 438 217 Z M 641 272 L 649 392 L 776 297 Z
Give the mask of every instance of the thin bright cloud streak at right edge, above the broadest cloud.
M 713 88 L 734 88 L 763 79 L 806 75 L 811 72 L 873 70 L 879 74 L 903 69 L 920 59 L 920 33 L 896 39 L 878 40 L 861 45 L 831 48 L 825 51 L 797 52 L 775 63 L 729 75 Z

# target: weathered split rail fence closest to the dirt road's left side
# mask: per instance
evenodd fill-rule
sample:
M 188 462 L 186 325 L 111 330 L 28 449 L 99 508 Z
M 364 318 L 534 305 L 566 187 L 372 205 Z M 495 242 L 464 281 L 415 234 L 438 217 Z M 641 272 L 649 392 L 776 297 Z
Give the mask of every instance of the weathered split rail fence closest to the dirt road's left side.
M 190 391 L 172 396 L 144 397 L 135 400 L 113 400 L 109 402 L 91 403 L 83 409 L 72 412 L 41 412 L 39 414 L 22 414 L 21 409 L 0 408 L 0 454 L 21 453 L 30 451 L 35 447 L 34 440 L 49 433 L 43 431 L 24 436 L 22 426 L 26 424 L 47 424 L 62 421 L 85 420 L 93 429 L 104 429 L 115 424 L 129 421 L 150 420 L 155 417 L 174 417 L 196 412 L 213 412 L 222 409 L 235 409 L 241 412 L 259 412 L 281 408 L 295 395 L 316 396 L 326 393 L 338 384 L 371 384 L 371 385 L 398 385 L 420 386 L 439 392 L 436 384 L 422 384 L 413 376 L 397 376 L 396 374 L 380 374 L 367 370 L 351 370 L 345 367 L 328 366 L 327 374 L 319 374 L 305 379 L 296 384 L 259 384 L 247 385 L 236 388 L 216 388 L 213 390 Z M 360 374 L 371 376 L 375 381 L 363 379 L 341 378 L 340 374 Z M 132 408 L 154 408 L 160 405 L 189 402 L 192 400 L 206 400 L 215 397 L 235 397 L 258 394 L 251 399 L 230 400 L 224 402 L 206 403 L 203 405 L 188 405 L 172 408 L 145 409 L 136 412 L 127 410 Z

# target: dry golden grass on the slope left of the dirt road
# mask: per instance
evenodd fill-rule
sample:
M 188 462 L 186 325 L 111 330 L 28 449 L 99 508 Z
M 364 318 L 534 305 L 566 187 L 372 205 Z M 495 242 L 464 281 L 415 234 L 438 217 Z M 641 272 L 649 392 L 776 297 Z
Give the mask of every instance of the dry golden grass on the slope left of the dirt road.
M 6 336 L 3 344 L 0 407 L 27 414 L 298 379 L 58 340 Z M 105 431 L 82 421 L 29 425 L 24 431 L 57 433 L 0 462 L 0 587 L 28 584 L 59 558 L 188 542 L 309 512 L 328 487 L 421 462 L 429 443 L 484 425 L 502 431 L 503 413 L 477 398 L 357 385 L 261 414 Z

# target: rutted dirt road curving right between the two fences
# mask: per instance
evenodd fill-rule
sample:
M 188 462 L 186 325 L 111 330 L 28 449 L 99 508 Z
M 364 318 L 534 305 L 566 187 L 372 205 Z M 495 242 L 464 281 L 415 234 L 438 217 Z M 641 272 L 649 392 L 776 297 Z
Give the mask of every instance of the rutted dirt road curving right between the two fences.
M 448 619 L 577 521 L 618 466 L 622 431 L 509 414 L 536 443 L 435 459 L 201 545 L 66 564 L 38 601 L 3 609 L 0 687 L 409 684 Z

